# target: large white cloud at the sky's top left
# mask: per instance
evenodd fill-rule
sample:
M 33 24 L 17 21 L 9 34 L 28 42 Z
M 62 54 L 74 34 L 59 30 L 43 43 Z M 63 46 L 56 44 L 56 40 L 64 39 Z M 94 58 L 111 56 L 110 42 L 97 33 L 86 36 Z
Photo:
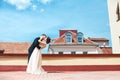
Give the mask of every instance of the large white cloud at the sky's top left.
M 31 0 L 4 0 L 5 2 L 16 6 L 18 10 L 24 10 L 31 5 Z

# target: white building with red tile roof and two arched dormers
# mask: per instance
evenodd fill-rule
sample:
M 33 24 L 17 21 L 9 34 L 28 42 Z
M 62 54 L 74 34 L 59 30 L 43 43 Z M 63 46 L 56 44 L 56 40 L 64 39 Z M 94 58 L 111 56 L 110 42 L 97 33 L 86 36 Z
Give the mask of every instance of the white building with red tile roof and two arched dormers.
M 60 30 L 59 38 L 53 39 L 48 48 L 50 54 L 103 54 L 102 47 L 108 47 L 105 38 L 85 38 L 77 30 Z

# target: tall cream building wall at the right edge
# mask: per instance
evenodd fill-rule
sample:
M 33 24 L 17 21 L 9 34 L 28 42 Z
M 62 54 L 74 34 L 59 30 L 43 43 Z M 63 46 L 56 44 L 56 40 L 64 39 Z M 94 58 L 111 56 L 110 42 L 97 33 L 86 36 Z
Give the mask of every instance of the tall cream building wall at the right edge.
M 120 54 L 120 0 L 108 0 L 112 53 Z

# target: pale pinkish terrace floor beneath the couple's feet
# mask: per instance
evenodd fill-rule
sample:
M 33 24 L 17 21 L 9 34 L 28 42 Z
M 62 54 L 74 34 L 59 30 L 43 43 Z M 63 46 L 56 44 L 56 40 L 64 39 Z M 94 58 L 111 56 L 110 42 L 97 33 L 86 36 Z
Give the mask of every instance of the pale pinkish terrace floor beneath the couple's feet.
M 74 71 L 28 74 L 25 71 L 0 72 L 0 80 L 120 80 L 120 71 Z

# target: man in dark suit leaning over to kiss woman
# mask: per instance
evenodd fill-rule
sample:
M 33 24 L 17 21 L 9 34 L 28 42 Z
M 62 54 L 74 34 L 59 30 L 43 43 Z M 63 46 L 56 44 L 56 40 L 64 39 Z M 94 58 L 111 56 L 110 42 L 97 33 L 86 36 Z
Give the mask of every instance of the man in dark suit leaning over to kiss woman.
M 28 62 L 29 62 L 30 56 L 31 56 L 34 48 L 37 47 L 38 49 L 40 49 L 41 48 L 39 46 L 40 41 L 45 40 L 46 38 L 47 38 L 47 36 L 45 34 L 42 34 L 40 37 L 35 38 L 35 40 L 33 41 L 32 45 L 28 49 Z

